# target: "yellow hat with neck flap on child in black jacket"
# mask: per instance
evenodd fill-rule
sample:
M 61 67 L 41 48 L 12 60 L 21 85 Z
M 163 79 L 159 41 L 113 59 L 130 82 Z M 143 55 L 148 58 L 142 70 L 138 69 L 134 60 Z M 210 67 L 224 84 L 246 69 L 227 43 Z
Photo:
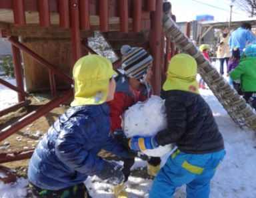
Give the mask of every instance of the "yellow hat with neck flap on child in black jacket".
M 189 54 L 177 54 L 171 58 L 163 90 L 183 90 L 199 94 L 197 62 Z

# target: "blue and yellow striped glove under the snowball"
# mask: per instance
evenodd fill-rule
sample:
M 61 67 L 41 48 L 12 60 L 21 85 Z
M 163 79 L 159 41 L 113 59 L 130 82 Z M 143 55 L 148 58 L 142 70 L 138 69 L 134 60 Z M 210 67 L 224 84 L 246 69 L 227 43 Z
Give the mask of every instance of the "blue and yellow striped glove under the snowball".
M 128 141 L 129 148 L 134 151 L 144 151 L 145 149 L 158 148 L 157 142 L 155 142 L 155 136 L 134 136 Z

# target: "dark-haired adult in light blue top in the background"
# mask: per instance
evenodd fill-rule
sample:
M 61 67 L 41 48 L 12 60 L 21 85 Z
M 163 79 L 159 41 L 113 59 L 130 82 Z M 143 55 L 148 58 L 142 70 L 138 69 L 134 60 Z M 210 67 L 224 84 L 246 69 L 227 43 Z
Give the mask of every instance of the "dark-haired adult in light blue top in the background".
M 229 38 L 229 47 L 233 50 L 237 47 L 240 50 L 240 56 L 243 54 L 243 49 L 247 45 L 247 42 L 252 43 L 255 41 L 255 37 L 251 34 L 251 24 L 243 23 L 241 27 L 233 31 Z

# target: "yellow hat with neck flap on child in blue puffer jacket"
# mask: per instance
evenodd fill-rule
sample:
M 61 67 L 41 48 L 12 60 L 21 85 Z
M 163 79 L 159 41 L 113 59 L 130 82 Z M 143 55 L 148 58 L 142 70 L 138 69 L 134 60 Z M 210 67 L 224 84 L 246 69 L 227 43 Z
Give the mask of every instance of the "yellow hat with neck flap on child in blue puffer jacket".
M 103 104 L 113 75 L 117 72 L 107 58 L 91 54 L 77 60 L 73 67 L 75 98 L 71 106 Z

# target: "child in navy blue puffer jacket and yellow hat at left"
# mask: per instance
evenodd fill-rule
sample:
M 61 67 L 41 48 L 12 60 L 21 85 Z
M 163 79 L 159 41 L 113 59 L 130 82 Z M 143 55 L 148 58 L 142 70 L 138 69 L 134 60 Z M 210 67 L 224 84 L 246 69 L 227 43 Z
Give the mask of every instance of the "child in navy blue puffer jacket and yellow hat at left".
M 29 187 L 36 197 L 84 197 L 88 175 L 113 185 L 123 183 L 121 167 L 97 156 L 101 149 L 120 157 L 128 154 L 109 136 L 105 102 L 113 100 L 115 74 L 111 62 L 99 55 L 83 56 L 75 63 L 71 108 L 49 128 L 29 162 Z

